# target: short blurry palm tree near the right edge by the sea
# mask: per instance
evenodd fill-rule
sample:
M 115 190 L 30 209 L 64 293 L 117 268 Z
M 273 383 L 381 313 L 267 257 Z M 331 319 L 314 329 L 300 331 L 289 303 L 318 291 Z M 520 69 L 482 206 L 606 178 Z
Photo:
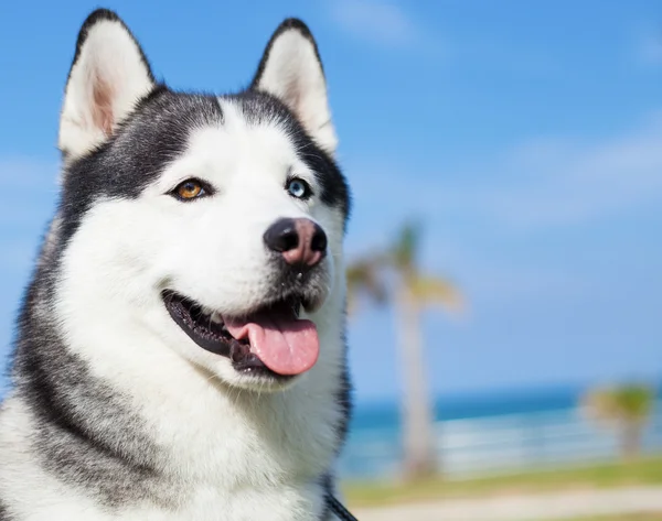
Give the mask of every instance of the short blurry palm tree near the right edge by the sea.
M 654 391 L 643 384 L 627 383 L 589 391 L 583 400 L 587 415 L 600 425 L 615 427 L 623 459 L 641 452 L 643 427 L 654 402 Z

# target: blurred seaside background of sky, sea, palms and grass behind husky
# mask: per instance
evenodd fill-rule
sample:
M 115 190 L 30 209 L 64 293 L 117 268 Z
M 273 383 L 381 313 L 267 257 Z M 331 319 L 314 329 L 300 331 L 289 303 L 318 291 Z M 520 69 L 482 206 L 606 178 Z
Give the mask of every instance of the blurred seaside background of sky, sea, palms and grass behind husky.
M 4 358 L 95 7 L 0 3 Z M 360 519 L 662 520 L 660 2 L 105 7 L 174 88 L 246 86 L 285 17 L 318 39 L 354 193 Z

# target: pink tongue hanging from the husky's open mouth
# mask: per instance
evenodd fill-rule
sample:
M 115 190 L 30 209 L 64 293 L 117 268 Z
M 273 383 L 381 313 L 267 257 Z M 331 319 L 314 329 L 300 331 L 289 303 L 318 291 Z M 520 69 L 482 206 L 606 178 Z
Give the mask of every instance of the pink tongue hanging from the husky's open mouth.
M 314 366 L 320 339 L 312 322 L 261 315 L 250 321 L 231 318 L 225 326 L 237 340 L 248 337 L 252 350 L 274 372 L 300 375 Z

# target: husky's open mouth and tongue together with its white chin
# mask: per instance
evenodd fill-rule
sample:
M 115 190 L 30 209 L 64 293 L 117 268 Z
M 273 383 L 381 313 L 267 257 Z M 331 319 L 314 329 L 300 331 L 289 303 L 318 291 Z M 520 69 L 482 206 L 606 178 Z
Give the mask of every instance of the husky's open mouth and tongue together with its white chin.
M 285 390 L 317 361 L 317 328 L 300 318 L 303 311 L 321 306 L 314 294 L 290 293 L 236 314 L 220 314 L 171 290 L 161 297 L 193 348 L 206 351 L 194 358 L 203 359 L 207 370 L 234 388 Z

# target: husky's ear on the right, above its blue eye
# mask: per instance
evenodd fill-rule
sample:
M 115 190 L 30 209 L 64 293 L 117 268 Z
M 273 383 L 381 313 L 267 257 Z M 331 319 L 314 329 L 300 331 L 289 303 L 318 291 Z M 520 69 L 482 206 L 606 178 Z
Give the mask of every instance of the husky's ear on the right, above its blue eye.
M 303 22 L 288 19 L 267 44 L 250 88 L 284 101 L 327 152 L 338 145 L 318 47 Z

